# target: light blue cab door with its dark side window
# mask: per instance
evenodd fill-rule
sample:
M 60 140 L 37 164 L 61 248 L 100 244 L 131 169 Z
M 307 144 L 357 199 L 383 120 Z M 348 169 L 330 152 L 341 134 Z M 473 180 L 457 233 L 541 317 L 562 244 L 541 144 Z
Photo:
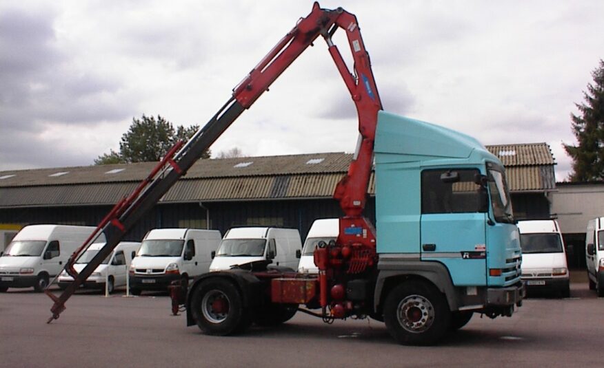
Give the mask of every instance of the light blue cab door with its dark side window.
M 421 173 L 421 260 L 443 263 L 454 285 L 485 285 L 485 189 L 478 169 Z

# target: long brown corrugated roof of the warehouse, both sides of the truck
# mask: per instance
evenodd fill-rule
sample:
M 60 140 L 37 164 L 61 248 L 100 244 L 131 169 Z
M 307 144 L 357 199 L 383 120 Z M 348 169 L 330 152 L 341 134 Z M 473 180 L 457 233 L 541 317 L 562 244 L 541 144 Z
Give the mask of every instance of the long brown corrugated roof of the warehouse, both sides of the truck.
M 487 148 L 504 162 L 510 191 L 555 188 L 554 160 L 547 144 Z M 347 153 L 200 160 L 161 202 L 331 197 L 350 160 L 352 155 Z M 252 164 L 234 167 L 248 162 Z M 5 178 L 0 179 L 0 207 L 114 204 L 130 194 L 154 166 L 145 162 L 1 172 Z M 368 193 L 375 193 L 374 186 L 372 175 Z

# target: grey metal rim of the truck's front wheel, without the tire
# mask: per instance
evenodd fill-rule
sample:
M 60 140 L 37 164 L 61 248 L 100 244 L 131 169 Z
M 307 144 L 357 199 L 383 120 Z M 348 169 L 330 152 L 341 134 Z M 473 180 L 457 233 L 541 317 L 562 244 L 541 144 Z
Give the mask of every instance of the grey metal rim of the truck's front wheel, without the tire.
M 396 318 L 408 332 L 425 332 L 434 323 L 434 307 L 421 295 L 409 295 L 396 308 Z

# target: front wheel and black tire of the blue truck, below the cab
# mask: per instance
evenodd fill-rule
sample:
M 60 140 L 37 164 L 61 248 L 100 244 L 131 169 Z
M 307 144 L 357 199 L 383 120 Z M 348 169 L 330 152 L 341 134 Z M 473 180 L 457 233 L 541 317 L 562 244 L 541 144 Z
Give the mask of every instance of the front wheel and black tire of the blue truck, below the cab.
M 384 322 L 400 344 L 433 345 L 449 330 L 451 311 L 445 296 L 434 286 L 405 282 L 386 297 Z

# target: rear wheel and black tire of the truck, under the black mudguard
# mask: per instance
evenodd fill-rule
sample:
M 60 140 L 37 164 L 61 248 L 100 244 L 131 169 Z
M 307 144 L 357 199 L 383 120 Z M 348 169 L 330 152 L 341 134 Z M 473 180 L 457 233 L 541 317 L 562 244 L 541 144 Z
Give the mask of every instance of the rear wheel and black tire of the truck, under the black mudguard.
M 239 290 L 225 279 L 207 279 L 194 290 L 191 314 L 201 332 L 225 336 L 243 332 L 252 321 Z

